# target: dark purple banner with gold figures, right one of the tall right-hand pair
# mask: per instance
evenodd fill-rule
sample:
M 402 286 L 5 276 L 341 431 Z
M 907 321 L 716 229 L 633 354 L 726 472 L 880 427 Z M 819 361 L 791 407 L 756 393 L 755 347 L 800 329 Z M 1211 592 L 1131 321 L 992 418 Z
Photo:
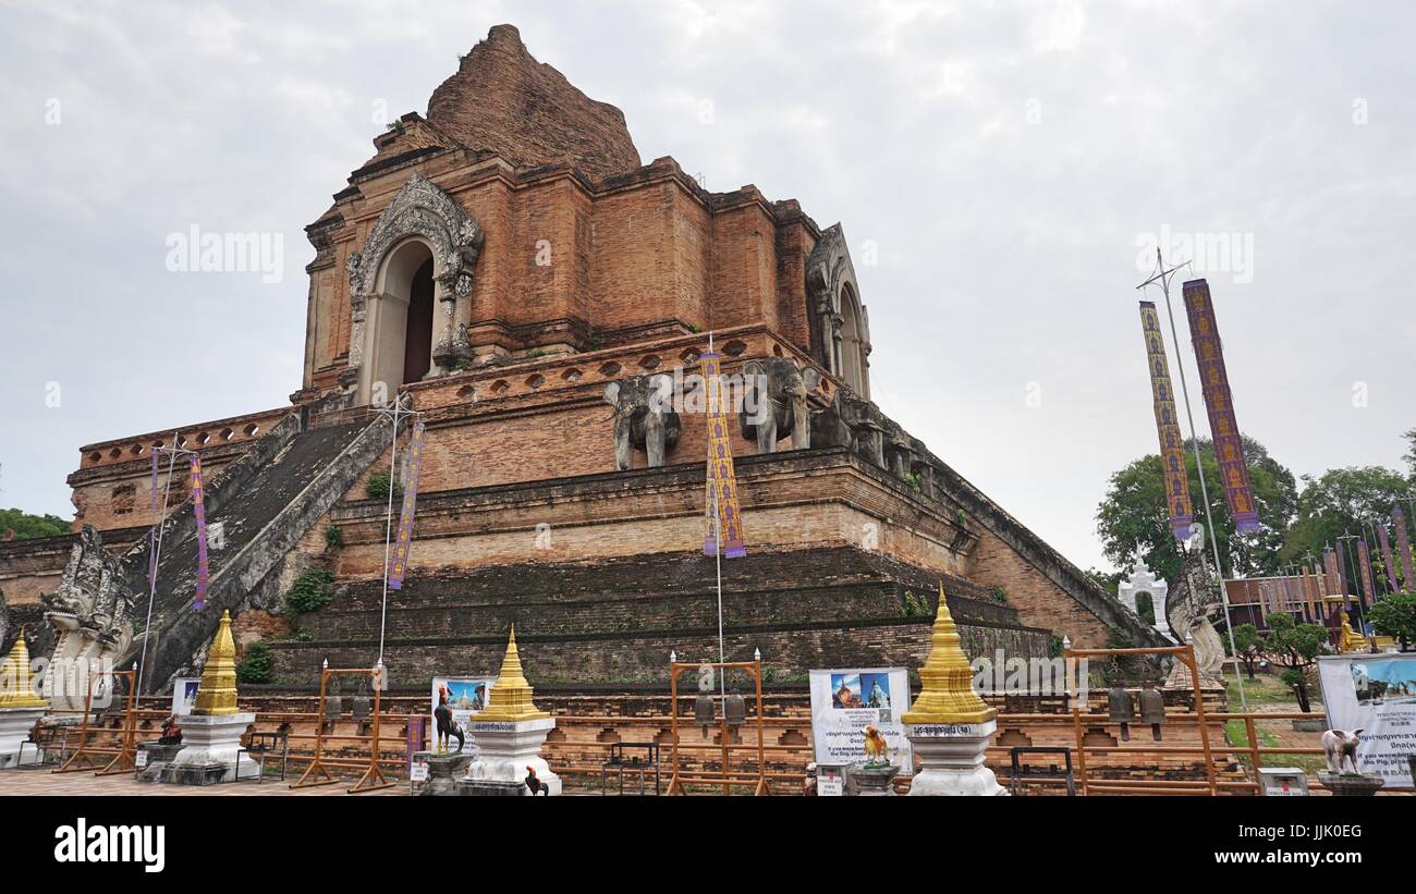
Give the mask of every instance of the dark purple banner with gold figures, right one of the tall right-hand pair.
M 1219 341 L 1215 307 L 1209 300 L 1209 283 L 1185 283 L 1185 313 L 1189 317 L 1189 338 L 1195 344 L 1205 409 L 1209 410 L 1209 434 L 1215 440 L 1215 463 L 1225 485 L 1229 518 L 1239 533 L 1255 533 L 1259 530 L 1259 509 L 1253 502 L 1249 465 L 1243 460 L 1243 439 L 1239 437 L 1233 393 L 1225 369 L 1225 349 Z

